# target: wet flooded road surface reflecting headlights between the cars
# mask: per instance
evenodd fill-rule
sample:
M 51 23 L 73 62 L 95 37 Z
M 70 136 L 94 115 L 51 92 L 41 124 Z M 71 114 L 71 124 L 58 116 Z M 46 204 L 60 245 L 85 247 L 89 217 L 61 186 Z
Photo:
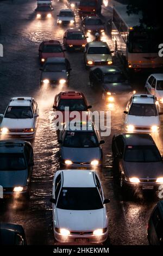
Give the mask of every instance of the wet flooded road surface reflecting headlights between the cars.
M 0 58 L 0 113 L 4 113 L 12 96 L 33 96 L 40 110 L 39 127 L 33 143 L 35 166 L 30 201 L 26 205 L 22 205 L 17 200 L 0 205 L 0 222 L 21 224 L 26 232 L 29 245 L 53 245 L 55 243 L 52 204 L 49 199 L 52 194 L 53 176 L 60 168 L 60 164 L 52 106 L 54 96 L 60 92 L 61 88 L 56 90 L 40 88 L 38 58 L 40 42 L 43 39 L 57 39 L 62 42 L 63 34 L 67 29 L 67 27 L 57 26 L 57 14 L 60 9 L 67 8 L 66 1 L 53 1 L 53 7 L 52 19 L 37 20 L 35 0 L 2 1 L 0 3 L 2 28 L 0 43 L 4 47 L 4 57 Z M 110 11 L 103 9 L 102 19 L 106 24 L 109 17 Z M 76 26 L 80 27 L 78 16 Z M 88 41 L 91 41 L 93 36 L 88 36 Z M 111 50 L 114 50 L 110 36 L 104 35 L 102 40 L 107 41 Z M 92 105 L 93 111 L 111 110 L 111 135 L 102 138 L 105 140 L 104 162 L 103 170 L 99 172 L 105 197 L 110 198 L 107 210 L 111 244 L 147 245 L 147 222 L 157 199 L 148 197 L 148 199 L 124 202 L 112 172 L 111 140 L 113 135 L 123 131 L 125 104 L 117 102 L 116 106 L 105 105 L 102 98 L 89 87 L 89 71 L 85 69 L 83 53 L 66 52 L 66 57 L 70 60 L 72 68 L 68 90 L 82 91 L 89 105 Z M 116 53 L 114 64 L 122 68 Z M 138 92 L 143 92 L 146 78 L 147 75 L 137 76 L 133 81 L 133 88 Z M 161 135 L 157 136 L 155 141 L 163 152 Z

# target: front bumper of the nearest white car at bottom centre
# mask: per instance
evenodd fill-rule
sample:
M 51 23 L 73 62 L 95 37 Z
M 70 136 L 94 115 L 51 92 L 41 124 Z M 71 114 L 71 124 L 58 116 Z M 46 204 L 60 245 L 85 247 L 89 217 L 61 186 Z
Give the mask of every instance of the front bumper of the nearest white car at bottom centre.
M 80 235 L 80 234 L 70 234 L 68 236 L 62 236 L 59 233 L 57 233 L 57 231 L 54 229 L 54 237 L 58 242 L 92 242 L 92 243 L 103 243 L 104 241 L 106 241 L 106 239 L 108 238 L 108 230 L 101 236 L 95 236 L 93 234 L 84 234 L 84 235 Z

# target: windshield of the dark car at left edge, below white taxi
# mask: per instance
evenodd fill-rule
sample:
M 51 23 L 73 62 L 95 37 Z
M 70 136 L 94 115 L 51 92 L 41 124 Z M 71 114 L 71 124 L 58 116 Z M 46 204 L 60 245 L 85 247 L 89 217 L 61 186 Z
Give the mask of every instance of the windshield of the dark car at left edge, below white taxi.
M 0 153 L 0 170 L 25 170 L 26 161 L 23 154 Z

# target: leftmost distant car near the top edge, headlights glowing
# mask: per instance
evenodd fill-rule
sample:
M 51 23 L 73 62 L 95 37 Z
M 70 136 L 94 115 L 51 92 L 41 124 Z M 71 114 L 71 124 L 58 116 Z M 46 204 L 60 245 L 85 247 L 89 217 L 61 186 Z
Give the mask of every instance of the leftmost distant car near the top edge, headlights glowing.
M 36 11 L 36 17 L 37 19 L 41 18 L 51 18 L 53 14 L 53 7 L 49 4 L 39 4 L 37 5 Z

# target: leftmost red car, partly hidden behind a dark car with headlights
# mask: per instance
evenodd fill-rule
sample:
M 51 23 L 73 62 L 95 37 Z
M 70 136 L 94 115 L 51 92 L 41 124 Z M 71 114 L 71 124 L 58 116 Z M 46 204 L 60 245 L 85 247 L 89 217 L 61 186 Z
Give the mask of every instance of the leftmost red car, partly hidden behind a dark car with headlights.
M 44 63 L 47 58 L 51 57 L 65 58 L 64 51 L 65 49 L 62 48 L 61 43 L 58 40 L 42 41 L 39 46 L 40 62 Z

